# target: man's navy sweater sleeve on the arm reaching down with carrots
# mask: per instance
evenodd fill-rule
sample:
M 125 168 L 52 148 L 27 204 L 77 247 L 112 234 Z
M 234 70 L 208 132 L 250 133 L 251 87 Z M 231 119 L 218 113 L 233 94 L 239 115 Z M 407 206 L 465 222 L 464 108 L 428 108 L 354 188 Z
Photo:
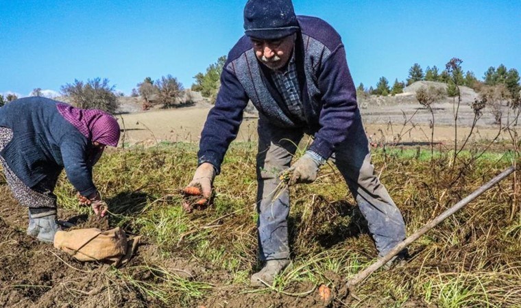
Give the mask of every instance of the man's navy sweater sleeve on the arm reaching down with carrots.
M 228 146 L 237 137 L 243 120 L 243 110 L 248 102 L 243 86 L 230 69 L 225 66 L 221 73 L 221 88 L 215 106 L 204 123 L 197 153 L 198 164 L 212 164 L 217 174 L 221 172 Z

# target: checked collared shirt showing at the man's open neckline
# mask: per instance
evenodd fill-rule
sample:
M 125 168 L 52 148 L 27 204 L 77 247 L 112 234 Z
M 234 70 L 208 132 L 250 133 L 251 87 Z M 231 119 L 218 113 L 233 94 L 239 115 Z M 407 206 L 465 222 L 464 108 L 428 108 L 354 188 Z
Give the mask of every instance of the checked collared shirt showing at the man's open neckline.
M 299 120 L 305 121 L 304 116 L 304 105 L 300 99 L 300 87 L 298 85 L 297 78 L 297 65 L 295 64 L 295 51 L 289 59 L 289 63 L 286 70 L 271 70 L 271 76 L 275 81 L 275 86 L 282 95 L 284 103 L 286 103 L 289 112 L 299 118 Z

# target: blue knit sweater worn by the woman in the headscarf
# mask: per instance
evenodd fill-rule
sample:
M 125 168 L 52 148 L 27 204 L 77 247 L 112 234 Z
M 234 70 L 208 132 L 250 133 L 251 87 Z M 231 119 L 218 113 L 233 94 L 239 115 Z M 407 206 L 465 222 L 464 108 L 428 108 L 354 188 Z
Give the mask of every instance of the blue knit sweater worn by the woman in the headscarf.
M 58 103 L 28 97 L 1 107 L 0 127 L 12 129 L 13 138 L 0 155 L 29 188 L 65 168 L 74 188 L 89 196 L 97 191 L 88 164 L 90 142 L 58 112 Z

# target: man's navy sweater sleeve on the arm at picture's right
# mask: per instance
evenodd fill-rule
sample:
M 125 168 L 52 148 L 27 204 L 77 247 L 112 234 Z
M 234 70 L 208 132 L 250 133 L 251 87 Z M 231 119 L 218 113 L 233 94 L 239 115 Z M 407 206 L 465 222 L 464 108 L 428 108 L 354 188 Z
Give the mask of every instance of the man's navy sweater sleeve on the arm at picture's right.
M 346 140 L 358 110 L 356 89 L 343 44 L 339 44 L 324 62 L 319 72 L 318 83 L 323 94 L 320 129 L 309 149 L 328 159 L 335 146 Z

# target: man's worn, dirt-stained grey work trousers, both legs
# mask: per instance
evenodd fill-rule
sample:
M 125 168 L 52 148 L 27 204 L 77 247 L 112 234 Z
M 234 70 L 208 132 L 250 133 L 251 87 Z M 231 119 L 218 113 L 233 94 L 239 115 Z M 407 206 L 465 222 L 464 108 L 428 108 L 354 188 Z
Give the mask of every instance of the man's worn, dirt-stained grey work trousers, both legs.
M 289 191 L 280 189 L 278 177 L 289 168 L 291 158 L 302 139 L 301 129 L 280 129 L 267 123 L 258 125 L 257 211 L 258 246 L 261 260 L 289 258 L 287 218 Z M 369 232 L 383 256 L 405 238 L 400 210 L 374 175 L 369 142 L 358 115 L 348 138 L 335 149 L 332 161 L 368 222 Z

